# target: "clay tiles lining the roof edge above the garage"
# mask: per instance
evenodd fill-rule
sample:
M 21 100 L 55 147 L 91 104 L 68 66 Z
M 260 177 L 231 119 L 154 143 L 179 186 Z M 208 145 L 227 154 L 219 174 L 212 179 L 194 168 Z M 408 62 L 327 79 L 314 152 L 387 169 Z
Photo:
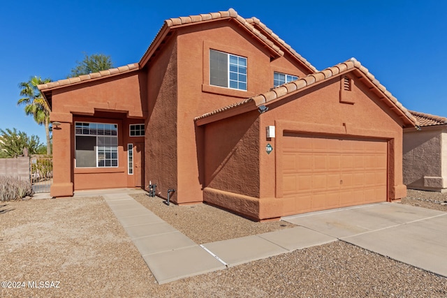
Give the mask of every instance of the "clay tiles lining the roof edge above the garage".
M 386 88 L 380 84 L 380 82 L 376 79 L 371 80 L 371 77 L 374 77 L 373 75 L 369 75 L 369 71 L 367 68 L 363 67 L 362 64 L 360 64 L 359 61 L 357 61 L 355 58 L 351 58 L 347 61 L 344 61 L 340 64 L 337 64 L 336 66 L 326 68 L 325 70 L 321 70 L 316 73 L 312 73 L 310 75 L 307 75 L 306 77 L 302 77 L 298 80 L 295 80 L 293 82 L 289 82 L 288 84 L 283 84 L 279 87 L 273 88 L 270 91 L 267 91 L 263 94 L 259 94 L 258 96 L 254 96 L 251 98 L 247 98 L 245 100 L 242 100 L 240 103 L 234 103 L 233 105 L 228 105 L 227 107 L 222 107 L 219 110 L 214 110 L 212 112 L 203 114 L 199 117 L 196 117 L 194 121 L 198 121 L 199 119 L 204 119 L 206 117 L 210 117 L 214 114 L 219 114 L 223 111 L 233 109 L 235 107 L 239 107 L 240 105 L 246 105 L 249 103 L 255 103 L 257 106 L 260 105 L 259 98 L 265 98 L 265 100 L 261 104 L 269 103 L 272 100 L 277 100 L 278 98 L 287 96 L 288 94 L 291 94 L 292 92 L 299 91 L 300 89 L 303 89 L 305 87 L 312 86 L 318 82 L 322 82 L 324 80 L 328 80 L 329 77 L 326 77 L 328 74 L 328 70 L 335 75 L 337 73 L 343 73 L 343 72 L 349 72 L 353 70 L 354 68 L 358 69 L 364 76 L 367 78 L 372 84 L 376 86 L 377 89 L 381 90 L 383 92 L 383 95 L 388 98 L 391 104 L 393 104 L 397 110 L 400 110 L 402 114 L 405 115 L 415 126 L 418 126 L 418 119 L 416 119 L 409 110 L 406 110 L 406 108 L 397 101 L 397 99 L 388 91 Z M 325 75 L 326 74 L 326 75 Z M 332 75 L 332 76 L 333 76 Z M 295 87 L 291 87 L 291 84 L 295 84 Z M 284 90 L 284 87 L 286 87 L 286 91 Z M 439 117 L 441 118 L 441 117 Z M 445 119 L 445 118 L 444 118 Z M 447 120 L 447 119 L 446 119 Z

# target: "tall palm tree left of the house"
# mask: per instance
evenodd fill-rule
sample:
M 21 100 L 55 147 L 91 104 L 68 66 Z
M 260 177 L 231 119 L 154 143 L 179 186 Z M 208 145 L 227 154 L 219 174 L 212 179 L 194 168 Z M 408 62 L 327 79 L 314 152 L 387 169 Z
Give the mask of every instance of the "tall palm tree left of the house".
M 43 98 L 37 85 L 51 82 L 50 79 L 42 80 L 41 77 L 31 77 L 28 82 L 21 82 L 20 96 L 17 105 L 25 105 L 24 110 L 27 115 L 33 115 L 34 121 L 39 125 L 45 126 L 45 134 L 47 136 L 47 155 L 51 155 L 50 140 L 50 107 L 47 100 Z

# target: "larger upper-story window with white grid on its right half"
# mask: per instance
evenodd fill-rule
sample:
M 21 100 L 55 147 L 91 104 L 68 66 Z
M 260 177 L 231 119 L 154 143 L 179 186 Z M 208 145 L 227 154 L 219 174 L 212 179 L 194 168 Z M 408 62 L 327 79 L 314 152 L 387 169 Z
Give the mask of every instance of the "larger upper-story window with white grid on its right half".
M 210 84 L 247 91 L 247 58 L 210 50 Z

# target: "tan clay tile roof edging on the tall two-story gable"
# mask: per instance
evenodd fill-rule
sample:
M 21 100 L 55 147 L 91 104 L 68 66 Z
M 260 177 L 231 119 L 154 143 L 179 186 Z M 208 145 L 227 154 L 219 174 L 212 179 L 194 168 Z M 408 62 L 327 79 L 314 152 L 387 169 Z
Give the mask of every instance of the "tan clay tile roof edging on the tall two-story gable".
M 216 20 L 235 20 L 238 24 L 240 24 L 244 29 L 249 31 L 255 38 L 264 43 L 266 47 L 269 48 L 272 52 L 276 53 L 280 57 L 284 56 L 284 50 L 291 52 L 292 57 L 295 57 L 298 61 L 300 61 L 303 66 L 308 68 L 309 71 L 316 72 L 316 68 L 312 66 L 306 59 L 304 59 L 300 54 L 295 52 L 292 47 L 284 42 L 281 38 L 279 38 L 276 34 L 273 33 L 272 30 L 268 29 L 265 24 L 261 23 L 256 17 L 251 17 L 250 19 L 244 19 L 240 15 L 237 14 L 236 10 L 230 8 L 228 11 L 219 11 L 218 13 L 206 13 L 201 15 L 190 15 L 189 17 L 175 17 L 165 21 L 163 27 L 161 27 L 159 33 L 157 33 L 156 38 L 152 41 L 151 45 L 149 45 L 147 51 L 143 55 L 140 60 L 140 66 L 143 67 L 149 61 L 150 57 L 155 53 L 155 51 L 161 45 L 166 36 L 169 35 L 170 29 L 175 29 L 177 27 L 189 26 L 197 23 L 204 22 L 212 22 Z M 255 27 L 254 24 L 258 24 L 259 27 Z M 261 32 L 257 28 L 262 28 L 263 32 Z M 274 43 L 272 40 L 275 40 L 280 46 Z M 282 49 L 281 49 L 282 47 Z

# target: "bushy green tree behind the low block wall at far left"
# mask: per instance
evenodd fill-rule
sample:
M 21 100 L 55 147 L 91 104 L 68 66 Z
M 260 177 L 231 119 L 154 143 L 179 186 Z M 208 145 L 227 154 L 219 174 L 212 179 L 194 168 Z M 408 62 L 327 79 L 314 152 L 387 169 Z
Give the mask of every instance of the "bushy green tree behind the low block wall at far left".
M 17 131 L 15 128 L 6 131 L 0 129 L 0 156 L 2 158 L 13 158 L 21 156 L 23 149 L 27 148 L 29 154 L 38 154 L 41 149 L 39 137 L 37 135 L 28 135 L 22 131 Z

